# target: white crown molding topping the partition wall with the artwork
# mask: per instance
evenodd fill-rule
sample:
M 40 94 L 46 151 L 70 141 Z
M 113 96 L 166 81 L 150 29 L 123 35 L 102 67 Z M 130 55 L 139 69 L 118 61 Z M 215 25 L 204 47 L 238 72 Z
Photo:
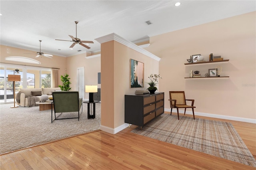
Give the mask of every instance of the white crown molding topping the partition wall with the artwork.
M 142 47 L 139 47 L 138 45 L 118 36 L 117 34 L 115 33 L 112 33 L 112 34 L 108 34 L 106 36 L 103 36 L 103 37 L 100 37 L 100 38 L 96 38 L 94 39 L 96 40 L 97 42 L 99 43 L 104 43 L 104 42 L 109 42 L 109 41 L 112 41 L 112 40 L 115 40 L 116 42 L 119 42 L 119 43 L 122 43 L 124 45 L 126 45 L 127 47 L 130 47 L 152 59 L 155 59 L 156 61 L 160 61 L 161 58 L 157 57 L 156 55 L 146 51 L 145 49 L 143 49 Z

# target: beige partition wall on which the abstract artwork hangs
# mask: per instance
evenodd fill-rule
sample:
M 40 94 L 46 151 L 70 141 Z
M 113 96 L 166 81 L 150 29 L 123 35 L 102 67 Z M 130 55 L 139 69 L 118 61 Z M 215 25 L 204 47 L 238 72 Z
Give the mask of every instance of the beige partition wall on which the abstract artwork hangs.
M 102 70 L 102 122 L 101 125 L 117 128 L 124 124 L 124 95 L 132 94 L 130 88 L 130 59 L 144 63 L 144 79 L 158 74 L 158 61 L 116 41 L 101 44 Z

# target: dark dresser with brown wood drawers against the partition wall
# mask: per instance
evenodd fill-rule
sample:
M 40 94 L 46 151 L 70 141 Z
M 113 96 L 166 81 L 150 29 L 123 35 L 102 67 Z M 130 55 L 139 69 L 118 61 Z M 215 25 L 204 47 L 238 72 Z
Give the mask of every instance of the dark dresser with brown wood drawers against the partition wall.
M 164 113 L 164 93 L 125 95 L 124 122 L 144 127 Z

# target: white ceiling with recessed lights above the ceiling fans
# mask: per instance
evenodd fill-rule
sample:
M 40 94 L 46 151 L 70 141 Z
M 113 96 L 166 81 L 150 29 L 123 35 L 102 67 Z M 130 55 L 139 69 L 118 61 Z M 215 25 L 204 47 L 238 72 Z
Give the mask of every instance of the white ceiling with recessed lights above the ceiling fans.
M 181 5 L 174 6 L 176 2 Z M 255 10 L 255 0 L 0 0 L 0 44 L 39 51 L 42 40 L 42 52 L 67 57 L 100 51 L 94 39 L 111 33 L 140 42 Z M 153 24 L 147 25 L 148 20 Z M 74 21 L 79 22 L 77 38 L 93 41 L 91 49 L 76 44 L 71 50 L 72 42 L 55 40 L 76 37 Z

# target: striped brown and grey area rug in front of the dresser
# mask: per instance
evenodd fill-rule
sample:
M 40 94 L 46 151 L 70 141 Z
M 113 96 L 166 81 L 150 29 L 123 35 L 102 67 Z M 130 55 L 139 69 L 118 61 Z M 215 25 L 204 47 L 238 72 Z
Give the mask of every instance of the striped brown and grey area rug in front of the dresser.
M 231 123 L 163 114 L 131 132 L 256 167 L 256 160 Z

